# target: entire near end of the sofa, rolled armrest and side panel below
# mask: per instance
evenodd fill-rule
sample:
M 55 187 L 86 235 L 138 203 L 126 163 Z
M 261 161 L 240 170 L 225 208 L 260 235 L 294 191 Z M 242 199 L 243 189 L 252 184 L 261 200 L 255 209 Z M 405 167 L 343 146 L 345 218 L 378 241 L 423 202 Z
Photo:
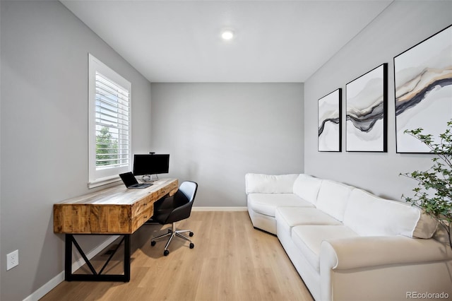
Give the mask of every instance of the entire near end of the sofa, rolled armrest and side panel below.
M 451 267 L 451 248 L 434 239 L 375 236 L 323 241 L 321 300 L 405 300 L 411 291 L 449 293 Z

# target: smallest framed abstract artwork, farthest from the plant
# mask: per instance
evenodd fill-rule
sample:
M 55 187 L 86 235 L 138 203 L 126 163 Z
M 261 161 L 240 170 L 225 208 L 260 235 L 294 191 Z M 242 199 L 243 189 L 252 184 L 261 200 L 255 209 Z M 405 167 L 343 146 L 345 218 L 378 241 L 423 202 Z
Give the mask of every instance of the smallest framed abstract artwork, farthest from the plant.
M 342 144 L 342 89 L 338 88 L 319 99 L 318 150 L 340 152 Z

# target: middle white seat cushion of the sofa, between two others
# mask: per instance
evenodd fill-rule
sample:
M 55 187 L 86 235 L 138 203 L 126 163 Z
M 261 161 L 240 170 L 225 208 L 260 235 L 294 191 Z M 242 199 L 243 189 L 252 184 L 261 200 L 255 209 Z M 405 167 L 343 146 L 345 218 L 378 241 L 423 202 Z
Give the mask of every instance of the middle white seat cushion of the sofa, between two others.
M 342 225 L 339 220 L 310 207 L 278 207 L 275 211 L 278 228 L 289 232 L 296 225 Z

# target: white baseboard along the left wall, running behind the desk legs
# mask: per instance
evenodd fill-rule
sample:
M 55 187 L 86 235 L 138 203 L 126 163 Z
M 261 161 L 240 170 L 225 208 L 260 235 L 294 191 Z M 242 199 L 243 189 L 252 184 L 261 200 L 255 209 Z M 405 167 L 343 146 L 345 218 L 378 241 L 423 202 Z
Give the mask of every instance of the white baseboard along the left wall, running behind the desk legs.
M 111 237 L 108 237 L 107 240 L 99 244 L 97 247 L 92 249 L 90 252 L 86 254 L 88 259 L 92 259 L 94 256 L 99 254 L 103 249 L 108 247 L 109 244 L 114 242 L 119 237 L 119 235 L 113 235 Z M 64 254 L 64 253 L 63 253 Z M 78 259 L 76 262 L 72 264 L 72 271 L 76 271 L 78 268 L 81 268 L 85 264 L 85 261 L 83 258 Z M 31 295 L 26 297 L 23 301 L 37 301 L 40 300 L 44 295 L 49 293 L 51 290 L 53 290 L 57 285 L 59 285 L 61 282 L 64 281 L 64 271 L 59 273 L 54 278 L 50 279 L 47 283 L 42 285 L 40 288 L 35 290 Z

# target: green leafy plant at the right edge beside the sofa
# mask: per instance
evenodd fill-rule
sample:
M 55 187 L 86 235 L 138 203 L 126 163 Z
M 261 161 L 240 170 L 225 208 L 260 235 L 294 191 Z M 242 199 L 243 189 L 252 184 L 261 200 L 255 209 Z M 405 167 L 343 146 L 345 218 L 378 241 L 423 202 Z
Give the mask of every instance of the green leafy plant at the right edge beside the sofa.
M 402 195 L 408 203 L 416 206 L 435 218 L 447 232 L 448 244 L 452 248 L 452 121 L 447 122 L 446 131 L 439 135 L 439 143 L 435 143 L 431 134 L 422 134 L 423 129 L 406 130 L 409 134 L 424 143 L 430 153 L 433 165 L 426 171 L 400 173 L 417 181 L 412 189 L 412 197 Z

